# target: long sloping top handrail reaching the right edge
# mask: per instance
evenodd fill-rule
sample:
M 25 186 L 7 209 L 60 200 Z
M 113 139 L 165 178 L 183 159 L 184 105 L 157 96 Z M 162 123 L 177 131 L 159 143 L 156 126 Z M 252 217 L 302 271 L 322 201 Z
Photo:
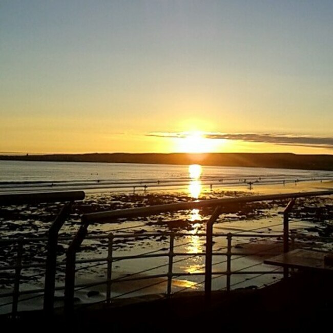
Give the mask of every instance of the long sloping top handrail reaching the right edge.
M 255 201 L 282 200 L 282 199 L 314 197 L 322 195 L 333 195 L 333 190 L 257 195 L 257 196 L 238 197 L 238 198 L 208 199 L 208 200 L 198 200 L 191 202 L 169 203 L 169 204 L 161 204 L 161 205 L 154 205 L 147 207 L 124 209 L 124 210 L 84 214 L 81 217 L 81 221 L 83 223 L 93 223 L 93 222 L 103 222 L 109 220 L 108 222 L 110 222 L 110 219 L 147 216 L 147 215 L 154 215 L 165 212 L 188 210 L 188 209 L 202 208 L 209 206 L 214 207 L 228 203 L 246 203 L 246 202 L 255 202 Z

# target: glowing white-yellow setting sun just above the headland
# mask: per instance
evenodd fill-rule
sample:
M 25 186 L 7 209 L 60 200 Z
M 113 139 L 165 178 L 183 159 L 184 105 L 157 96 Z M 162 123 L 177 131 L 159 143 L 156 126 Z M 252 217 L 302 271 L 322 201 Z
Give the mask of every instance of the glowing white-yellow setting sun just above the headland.
M 209 153 L 215 151 L 214 140 L 208 139 L 202 132 L 185 132 L 178 139 L 178 151 L 183 153 Z

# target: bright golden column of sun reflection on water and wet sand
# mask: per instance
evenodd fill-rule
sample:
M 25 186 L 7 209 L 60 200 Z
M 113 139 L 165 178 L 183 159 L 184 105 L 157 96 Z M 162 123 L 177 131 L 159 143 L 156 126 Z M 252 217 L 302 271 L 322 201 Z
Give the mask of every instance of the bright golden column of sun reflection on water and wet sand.
M 200 176 L 202 173 L 202 167 L 199 164 L 191 164 L 189 165 L 189 177 L 191 179 L 189 184 L 189 193 L 192 198 L 198 199 L 201 193 L 202 185 L 200 181 Z M 186 244 L 185 251 L 187 253 L 198 253 L 202 252 L 202 245 L 204 244 L 204 238 L 197 236 L 199 227 L 201 226 L 202 216 L 200 215 L 200 211 L 198 209 L 193 209 L 190 212 L 190 216 L 188 218 L 189 221 L 195 222 L 192 225 L 192 230 L 190 231 L 193 236 L 190 236 L 190 243 Z M 184 266 L 184 270 L 186 273 L 197 273 L 202 272 L 203 268 L 203 257 L 202 256 L 194 256 L 190 257 L 186 260 L 186 266 Z M 193 286 L 193 282 L 189 281 L 188 287 Z

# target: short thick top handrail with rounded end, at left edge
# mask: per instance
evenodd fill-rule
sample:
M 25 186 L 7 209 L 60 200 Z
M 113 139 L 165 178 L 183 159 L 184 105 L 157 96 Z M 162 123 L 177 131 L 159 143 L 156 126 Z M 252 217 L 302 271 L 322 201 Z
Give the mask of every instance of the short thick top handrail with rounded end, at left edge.
M 25 203 L 76 201 L 83 200 L 84 198 L 84 191 L 0 194 L 0 206 Z

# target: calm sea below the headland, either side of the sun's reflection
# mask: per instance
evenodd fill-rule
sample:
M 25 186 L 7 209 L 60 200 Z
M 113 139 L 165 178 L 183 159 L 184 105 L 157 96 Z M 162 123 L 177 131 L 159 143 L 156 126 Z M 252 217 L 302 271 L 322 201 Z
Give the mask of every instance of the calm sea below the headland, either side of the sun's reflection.
M 200 182 L 228 186 L 249 182 L 275 183 L 333 179 L 331 172 L 201 166 Z M 0 161 L 0 193 L 164 189 L 193 181 L 189 165 Z

